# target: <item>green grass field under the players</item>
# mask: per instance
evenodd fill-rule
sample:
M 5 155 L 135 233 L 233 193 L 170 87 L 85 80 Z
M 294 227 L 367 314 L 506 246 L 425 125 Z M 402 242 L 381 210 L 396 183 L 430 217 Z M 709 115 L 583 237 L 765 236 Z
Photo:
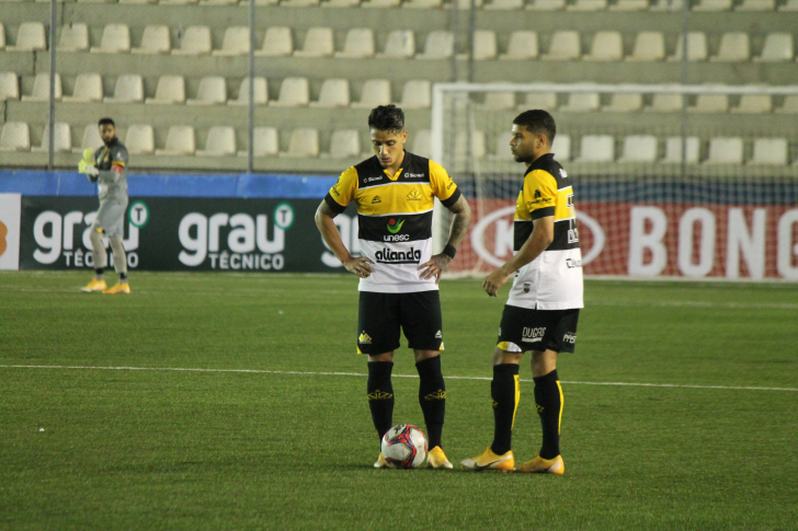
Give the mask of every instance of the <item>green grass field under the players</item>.
M 492 437 L 506 288 L 442 284 L 455 470 L 380 471 L 353 276 L 89 278 L 0 274 L 0 529 L 797 527 L 796 285 L 588 281 L 559 362 L 567 471 L 540 476 L 458 464 Z M 407 348 L 395 374 L 395 422 L 423 429 Z

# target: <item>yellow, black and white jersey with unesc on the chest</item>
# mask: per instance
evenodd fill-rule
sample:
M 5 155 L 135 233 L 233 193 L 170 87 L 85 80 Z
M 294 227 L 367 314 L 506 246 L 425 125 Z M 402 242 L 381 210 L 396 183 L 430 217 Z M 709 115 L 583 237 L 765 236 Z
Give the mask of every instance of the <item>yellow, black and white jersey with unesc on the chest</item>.
M 434 278 L 422 279 L 419 265 L 432 256 L 432 208 L 437 197 L 451 207 L 460 197 L 440 164 L 404 152 L 402 168 L 391 175 L 372 157 L 350 168 L 324 196 L 341 213 L 357 206 L 357 238 L 374 273 L 361 278 L 360 291 L 412 293 L 436 290 Z

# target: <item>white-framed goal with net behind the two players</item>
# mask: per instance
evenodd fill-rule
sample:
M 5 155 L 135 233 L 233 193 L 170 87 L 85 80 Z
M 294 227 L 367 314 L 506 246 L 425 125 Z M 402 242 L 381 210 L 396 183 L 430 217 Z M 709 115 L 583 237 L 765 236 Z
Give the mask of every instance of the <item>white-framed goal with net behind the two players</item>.
M 451 273 L 513 253 L 525 165 L 510 129 L 528 108 L 557 123 L 586 275 L 798 281 L 795 86 L 435 84 L 431 154 L 474 212 Z

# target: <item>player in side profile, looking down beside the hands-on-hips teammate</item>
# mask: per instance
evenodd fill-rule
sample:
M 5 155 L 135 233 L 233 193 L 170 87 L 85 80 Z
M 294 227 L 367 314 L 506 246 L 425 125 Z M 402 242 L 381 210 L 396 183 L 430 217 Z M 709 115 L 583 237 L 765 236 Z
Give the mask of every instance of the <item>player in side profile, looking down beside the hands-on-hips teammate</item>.
M 467 469 L 562 474 L 560 455 L 562 388 L 559 353 L 572 353 L 582 303 L 582 255 L 568 174 L 551 153 L 555 120 L 546 111 L 526 111 L 513 120 L 510 149 L 528 164 L 515 207 L 515 255 L 482 284 L 495 297 L 515 273 L 493 349 L 493 443 Z M 543 446 L 532 461 L 515 466 L 511 450 L 518 405 L 518 365 L 532 350 L 535 404 L 543 425 Z

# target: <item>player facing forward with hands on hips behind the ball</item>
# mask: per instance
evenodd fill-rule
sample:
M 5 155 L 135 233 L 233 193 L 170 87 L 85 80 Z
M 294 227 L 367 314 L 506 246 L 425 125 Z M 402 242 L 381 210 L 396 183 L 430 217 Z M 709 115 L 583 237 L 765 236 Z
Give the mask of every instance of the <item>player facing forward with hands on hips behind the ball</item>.
M 380 105 L 368 116 L 375 155 L 350 168 L 316 212 L 316 226 L 346 270 L 360 280 L 357 351 L 368 356 L 368 406 L 381 439 L 392 425 L 394 350 L 400 327 L 419 371 L 419 403 L 426 423 L 428 466 L 452 469 L 441 446 L 446 385 L 441 372 L 443 321 L 437 284 L 455 257 L 470 220 L 468 203 L 446 171 L 404 151 L 404 114 Z M 435 197 L 454 212 L 448 242 L 432 254 Z M 351 201 L 357 206 L 362 256 L 343 245 L 333 218 Z M 388 467 L 379 454 L 375 467 Z

